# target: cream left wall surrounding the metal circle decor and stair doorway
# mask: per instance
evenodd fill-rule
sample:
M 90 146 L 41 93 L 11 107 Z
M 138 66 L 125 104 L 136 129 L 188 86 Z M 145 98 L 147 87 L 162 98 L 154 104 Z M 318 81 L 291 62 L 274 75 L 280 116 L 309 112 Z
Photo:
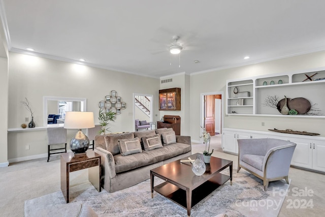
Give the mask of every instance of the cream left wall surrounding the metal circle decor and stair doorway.
M 150 85 L 139 85 L 143 83 Z M 34 110 L 36 126 L 42 126 L 43 96 L 86 98 L 87 111 L 94 113 L 94 121 L 98 123 L 98 103 L 111 90 L 116 90 L 126 102 L 126 109 L 110 123 L 110 131 L 132 131 L 133 93 L 151 94 L 158 99 L 158 89 L 159 79 L 10 52 L 8 126 L 19 128 L 25 117 L 30 116 L 20 103 L 25 98 Z M 153 112 L 159 112 L 158 105 L 153 106 Z M 75 131 L 68 131 L 69 141 L 74 134 Z M 29 150 L 25 150 L 26 144 L 30 146 Z M 47 153 L 45 130 L 8 133 L 8 159 L 19 160 L 44 153 Z

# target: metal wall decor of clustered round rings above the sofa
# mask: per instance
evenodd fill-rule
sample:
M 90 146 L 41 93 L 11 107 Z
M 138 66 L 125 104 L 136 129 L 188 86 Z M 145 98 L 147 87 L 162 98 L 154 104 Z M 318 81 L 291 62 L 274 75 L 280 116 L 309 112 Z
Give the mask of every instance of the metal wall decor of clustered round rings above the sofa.
M 104 101 L 98 103 L 98 107 L 105 109 L 106 112 L 114 112 L 116 114 L 121 114 L 121 110 L 126 108 L 126 103 L 122 102 L 122 98 L 117 96 L 117 92 L 112 90 L 110 95 L 105 96 Z

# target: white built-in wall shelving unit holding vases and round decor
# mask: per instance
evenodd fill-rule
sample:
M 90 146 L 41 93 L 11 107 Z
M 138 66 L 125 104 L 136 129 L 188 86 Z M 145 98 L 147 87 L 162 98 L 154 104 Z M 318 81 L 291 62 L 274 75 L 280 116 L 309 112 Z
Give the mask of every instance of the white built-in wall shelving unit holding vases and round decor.
M 306 75 L 312 76 L 312 81 L 304 81 Z M 280 101 L 286 96 L 290 99 L 305 98 L 312 109 L 318 110 L 317 115 L 307 113 L 286 116 L 325 118 L 325 98 L 321 97 L 325 92 L 325 80 L 315 80 L 321 78 L 325 78 L 325 68 L 227 80 L 226 114 L 283 116 L 276 108 L 266 106 L 265 103 L 268 97 L 277 97 Z

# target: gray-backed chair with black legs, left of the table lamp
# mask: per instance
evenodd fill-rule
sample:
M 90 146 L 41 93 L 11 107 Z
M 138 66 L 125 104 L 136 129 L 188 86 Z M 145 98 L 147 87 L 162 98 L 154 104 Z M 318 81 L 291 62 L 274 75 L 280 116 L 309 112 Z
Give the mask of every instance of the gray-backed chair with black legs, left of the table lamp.
M 64 144 L 61 148 L 52 148 L 51 145 Z M 64 128 L 48 128 L 47 129 L 47 162 L 50 160 L 51 154 L 67 153 L 67 129 Z M 57 152 L 56 150 L 63 150 Z M 54 152 L 51 152 L 54 151 Z

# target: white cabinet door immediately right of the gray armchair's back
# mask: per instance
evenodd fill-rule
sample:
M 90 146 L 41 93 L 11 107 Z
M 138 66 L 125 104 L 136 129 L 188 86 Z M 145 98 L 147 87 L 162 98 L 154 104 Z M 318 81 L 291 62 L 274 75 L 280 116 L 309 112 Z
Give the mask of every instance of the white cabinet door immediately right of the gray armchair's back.
M 307 139 L 288 139 L 297 144 L 291 165 L 312 168 L 312 142 Z

